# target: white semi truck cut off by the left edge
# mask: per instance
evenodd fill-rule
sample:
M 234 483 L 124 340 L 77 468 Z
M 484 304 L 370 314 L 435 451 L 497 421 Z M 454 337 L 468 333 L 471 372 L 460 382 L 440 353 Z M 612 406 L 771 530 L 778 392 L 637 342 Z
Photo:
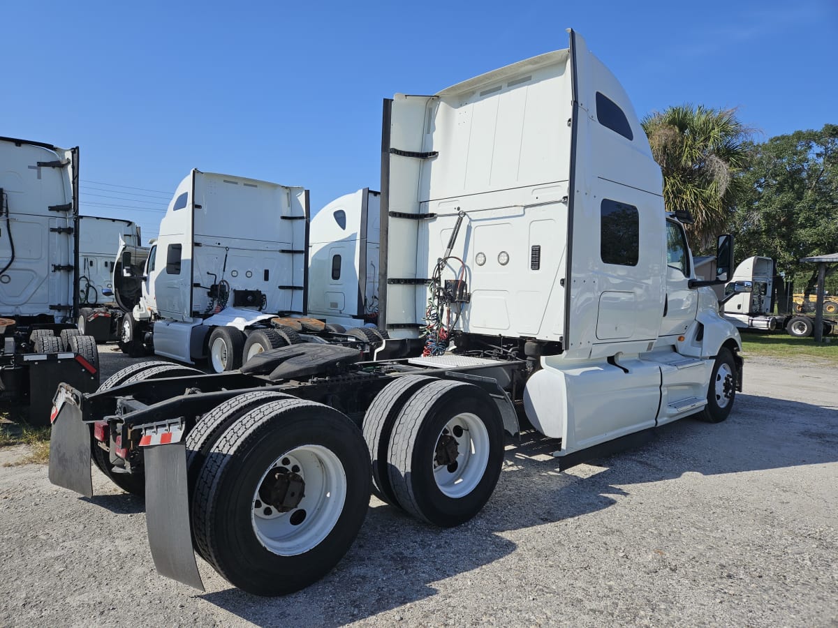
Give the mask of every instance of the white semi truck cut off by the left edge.
M 79 149 L 0 137 L 0 401 L 48 425 L 54 387 L 99 385 L 79 308 Z

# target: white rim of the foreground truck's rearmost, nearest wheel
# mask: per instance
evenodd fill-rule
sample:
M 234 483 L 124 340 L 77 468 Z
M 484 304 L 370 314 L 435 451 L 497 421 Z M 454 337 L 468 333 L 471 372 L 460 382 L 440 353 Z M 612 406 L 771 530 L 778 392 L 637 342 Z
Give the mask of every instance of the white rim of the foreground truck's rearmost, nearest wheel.
M 262 482 L 275 468 L 297 473 L 305 482 L 303 499 L 288 512 L 278 512 L 259 496 Z M 346 472 L 338 456 L 322 445 L 300 445 L 279 456 L 256 485 L 253 532 L 268 551 L 297 556 L 323 543 L 344 512 L 345 502 Z

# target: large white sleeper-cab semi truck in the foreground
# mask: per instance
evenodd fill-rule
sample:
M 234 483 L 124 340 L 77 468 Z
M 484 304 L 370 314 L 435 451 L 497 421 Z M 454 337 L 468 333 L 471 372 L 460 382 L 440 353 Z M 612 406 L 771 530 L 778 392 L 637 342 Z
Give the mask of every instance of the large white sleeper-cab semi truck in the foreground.
M 519 409 L 560 470 L 725 420 L 737 329 L 693 274 L 628 96 L 568 32 L 568 49 L 385 100 L 379 316 L 405 358 L 305 343 L 230 373 L 137 364 L 96 394 L 62 385 L 51 481 L 92 494 L 92 431 L 94 460 L 145 492 L 161 574 L 201 588 L 197 551 L 278 595 L 343 556 L 371 485 L 431 525 L 474 517 Z

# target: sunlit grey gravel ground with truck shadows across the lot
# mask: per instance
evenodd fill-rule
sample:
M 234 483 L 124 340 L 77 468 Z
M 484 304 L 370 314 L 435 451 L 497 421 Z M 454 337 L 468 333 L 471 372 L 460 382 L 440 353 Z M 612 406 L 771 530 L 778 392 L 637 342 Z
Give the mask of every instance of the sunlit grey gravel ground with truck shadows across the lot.
M 100 347 L 103 376 L 132 363 Z M 118 364 L 116 364 L 118 363 Z M 142 501 L 0 467 L 0 625 L 838 625 L 834 368 L 748 359 L 719 425 L 557 471 L 510 440 L 484 511 L 438 530 L 373 497 L 353 548 L 297 594 L 159 577 Z

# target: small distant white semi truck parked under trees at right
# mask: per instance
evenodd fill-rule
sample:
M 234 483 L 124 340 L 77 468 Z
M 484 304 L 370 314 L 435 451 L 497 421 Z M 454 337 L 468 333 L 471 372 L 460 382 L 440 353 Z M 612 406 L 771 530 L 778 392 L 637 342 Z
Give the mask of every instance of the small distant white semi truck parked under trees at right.
M 724 317 L 739 329 L 764 332 L 784 329 L 790 336 L 810 337 L 815 327 L 814 317 L 773 313 L 776 276 L 776 266 L 770 257 L 755 255 L 742 260 L 725 286 Z M 838 331 L 834 321 L 824 320 L 822 324 L 825 334 Z

